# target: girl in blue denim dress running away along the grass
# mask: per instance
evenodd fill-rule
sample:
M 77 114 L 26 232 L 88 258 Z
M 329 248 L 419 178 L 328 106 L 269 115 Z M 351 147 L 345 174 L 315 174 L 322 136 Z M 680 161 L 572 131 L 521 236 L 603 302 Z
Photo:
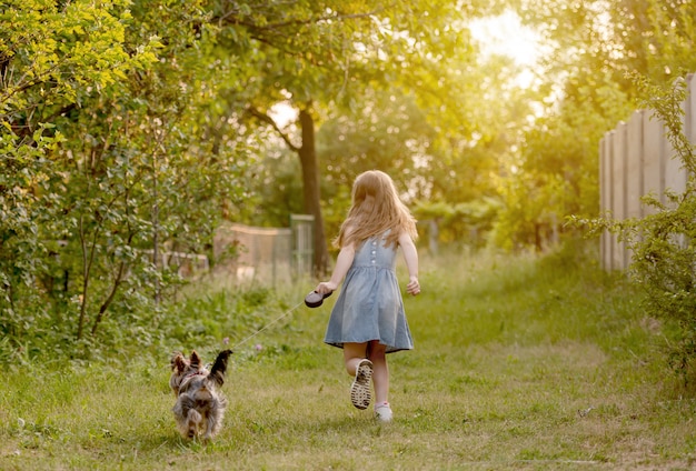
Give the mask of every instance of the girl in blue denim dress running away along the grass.
M 379 170 L 359 174 L 348 218 L 334 241 L 340 248 L 336 268 L 331 279 L 315 289 L 328 294 L 346 278 L 324 341 L 344 349 L 346 370 L 355 378 L 350 400 L 356 408 L 370 404 L 374 381 L 375 415 L 382 422 L 392 418 L 386 353 L 414 348 L 395 272 L 396 251 L 401 248 L 408 269 L 406 292 L 420 293 L 417 236 L 416 220 L 391 178 Z

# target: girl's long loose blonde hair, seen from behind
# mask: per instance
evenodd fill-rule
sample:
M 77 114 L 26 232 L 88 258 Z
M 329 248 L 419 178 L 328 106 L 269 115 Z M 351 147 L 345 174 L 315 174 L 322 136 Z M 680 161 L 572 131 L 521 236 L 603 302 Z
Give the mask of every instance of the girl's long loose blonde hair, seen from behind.
M 352 204 L 334 245 L 341 248 L 355 243 L 359 247 L 388 230 L 387 247 L 396 247 L 402 232 L 408 232 L 412 239 L 418 237 L 416 219 L 399 199 L 391 177 L 379 170 L 368 170 L 352 183 Z

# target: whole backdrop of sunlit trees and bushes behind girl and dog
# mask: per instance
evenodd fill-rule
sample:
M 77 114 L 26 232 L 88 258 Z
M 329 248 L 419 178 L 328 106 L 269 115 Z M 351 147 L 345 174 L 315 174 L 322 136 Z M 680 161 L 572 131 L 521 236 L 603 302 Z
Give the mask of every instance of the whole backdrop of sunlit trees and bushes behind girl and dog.
M 395 178 L 424 250 L 541 251 L 577 236 L 568 216 L 598 216 L 599 139 L 645 98 L 634 78 L 668 84 L 696 70 L 695 10 L 6 1 L 0 358 L 160 344 L 185 281 L 158 253 L 215 265 L 223 221 L 312 214 L 326 273 L 368 169 Z M 531 67 L 473 33 L 510 16 L 536 40 Z

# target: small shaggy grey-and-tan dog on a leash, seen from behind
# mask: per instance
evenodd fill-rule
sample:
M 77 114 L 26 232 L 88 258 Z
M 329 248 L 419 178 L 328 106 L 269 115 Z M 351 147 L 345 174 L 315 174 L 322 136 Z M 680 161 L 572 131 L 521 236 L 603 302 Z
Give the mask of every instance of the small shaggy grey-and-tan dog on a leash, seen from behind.
M 171 358 L 169 385 L 177 397 L 173 413 L 182 437 L 192 439 L 202 433 L 203 440 L 211 440 L 220 430 L 227 400 L 219 388 L 230 354 L 231 350 L 221 351 L 210 371 L 196 351 L 188 360 L 180 352 Z

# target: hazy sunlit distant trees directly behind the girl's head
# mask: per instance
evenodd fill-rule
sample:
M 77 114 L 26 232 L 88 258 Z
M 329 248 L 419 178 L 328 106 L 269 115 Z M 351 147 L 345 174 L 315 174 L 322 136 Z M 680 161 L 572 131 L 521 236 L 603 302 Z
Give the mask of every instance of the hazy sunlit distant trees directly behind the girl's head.
M 495 210 L 478 211 L 477 217 L 470 210 L 497 207 L 500 161 L 515 139 L 503 128 L 514 127 L 525 108 L 516 90 L 499 90 L 511 73 L 509 61 L 496 58 L 473 68 L 474 54 L 470 46 L 441 59 L 443 77 L 429 78 L 437 84 L 419 77 L 424 89 L 416 91 L 408 83 L 414 79 L 404 73 L 386 90 L 376 83 L 355 97 L 360 107 L 328 116 L 317 134 L 326 164 L 327 227 L 334 228 L 328 233 L 336 233 L 345 217 L 355 177 L 379 168 L 395 179 L 424 236 L 443 243 L 485 244 Z M 506 107 L 499 106 L 501 100 Z

